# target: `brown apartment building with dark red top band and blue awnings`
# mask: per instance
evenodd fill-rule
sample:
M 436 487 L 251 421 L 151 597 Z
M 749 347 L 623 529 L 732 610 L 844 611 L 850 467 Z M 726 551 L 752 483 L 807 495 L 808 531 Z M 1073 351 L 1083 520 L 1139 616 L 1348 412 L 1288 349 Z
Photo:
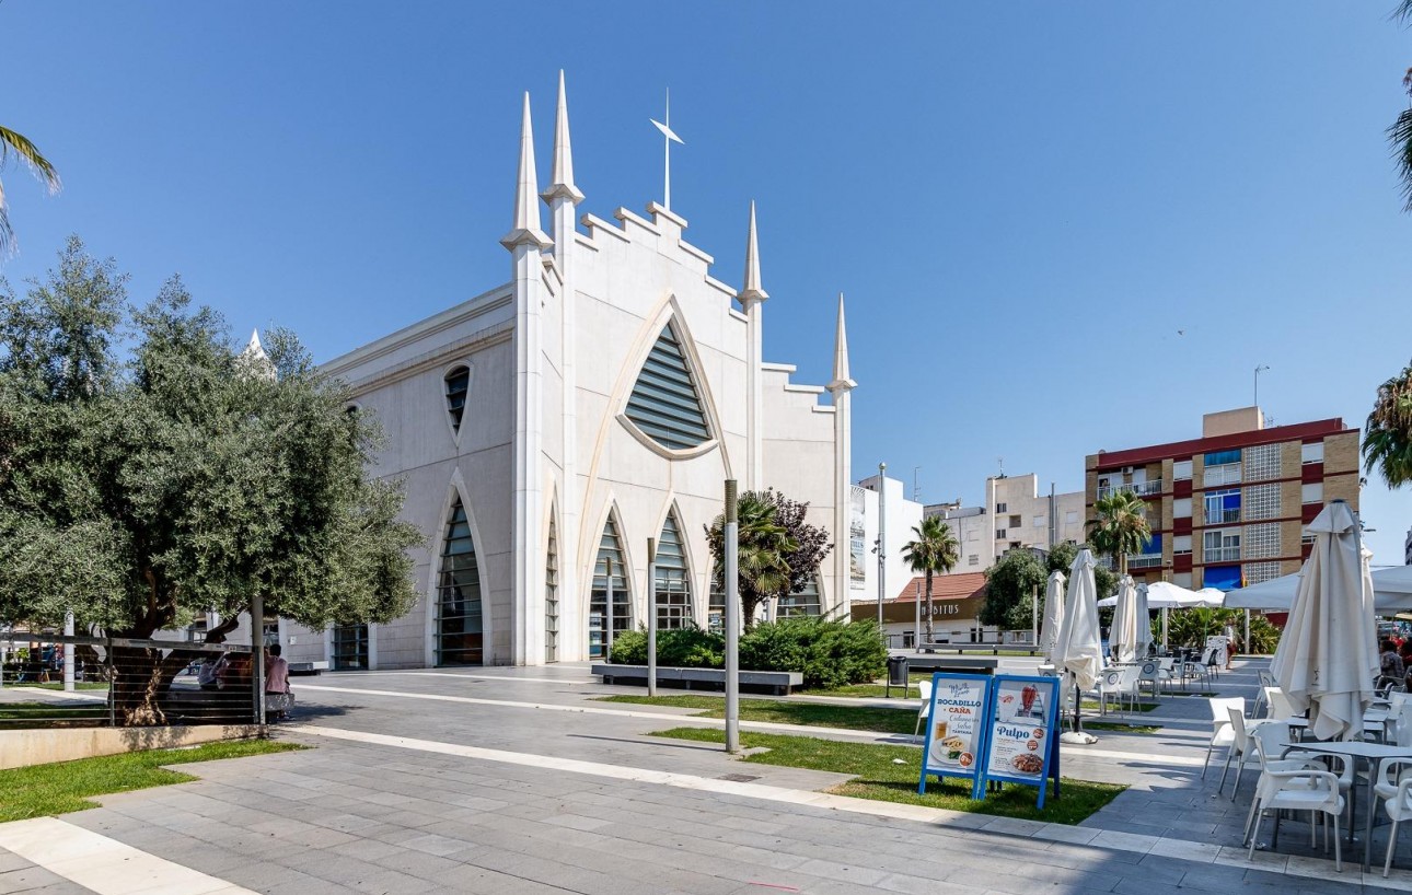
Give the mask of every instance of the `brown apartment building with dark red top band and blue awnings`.
M 1358 508 L 1358 429 L 1343 419 L 1265 428 L 1258 407 L 1202 418 L 1202 438 L 1100 450 L 1084 462 L 1084 503 L 1131 490 L 1152 542 L 1135 579 L 1230 590 L 1298 572 L 1303 527 L 1332 500 Z

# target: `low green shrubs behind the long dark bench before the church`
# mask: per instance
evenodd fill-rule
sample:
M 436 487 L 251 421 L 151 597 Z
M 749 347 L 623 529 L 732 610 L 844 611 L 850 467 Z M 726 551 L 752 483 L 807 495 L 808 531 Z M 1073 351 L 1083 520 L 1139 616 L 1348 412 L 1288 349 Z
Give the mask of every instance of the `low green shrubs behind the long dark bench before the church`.
M 614 637 L 609 661 L 647 665 L 647 631 Z M 664 668 L 724 668 L 726 638 L 696 627 L 658 631 L 657 662 Z M 887 648 L 871 621 L 785 618 L 760 623 L 741 635 L 740 666 L 799 672 L 805 687 L 827 689 L 881 678 Z

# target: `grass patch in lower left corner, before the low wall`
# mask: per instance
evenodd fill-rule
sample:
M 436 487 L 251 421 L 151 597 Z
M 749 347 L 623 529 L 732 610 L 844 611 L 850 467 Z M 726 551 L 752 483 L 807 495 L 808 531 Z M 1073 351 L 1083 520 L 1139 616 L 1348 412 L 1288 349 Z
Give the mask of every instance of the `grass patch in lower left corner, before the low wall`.
M 88 800 L 90 796 L 196 779 L 189 774 L 167 771 L 161 765 L 246 758 L 302 748 L 305 747 L 294 743 L 270 740 L 229 740 L 195 748 L 150 750 L 11 768 L 0 771 L 0 823 L 97 807 L 97 803 Z

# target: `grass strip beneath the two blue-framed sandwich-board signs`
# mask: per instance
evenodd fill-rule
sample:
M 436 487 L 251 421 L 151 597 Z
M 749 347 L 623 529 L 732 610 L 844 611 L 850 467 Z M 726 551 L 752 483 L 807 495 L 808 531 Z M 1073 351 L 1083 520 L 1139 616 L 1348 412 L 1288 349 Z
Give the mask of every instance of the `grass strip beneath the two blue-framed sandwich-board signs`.
M 724 731 L 698 727 L 675 727 L 650 735 L 698 743 L 726 741 Z M 955 778 L 945 781 L 932 778 L 926 783 L 926 795 L 918 795 L 916 779 L 921 775 L 922 751 L 915 747 L 757 733 L 741 733 L 740 741 L 746 747 L 770 750 L 744 758 L 750 764 L 853 775 L 853 779 L 846 783 L 829 789 L 834 795 L 943 807 L 953 812 L 1073 824 L 1093 815 L 1127 789 L 1127 786 L 1114 783 L 1090 783 L 1065 778 L 1062 795 L 1055 798 L 1051 789 L 1045 809 L 1038 810 L 1035 807 L 1038 793 L 1034 786 L 1007 785 L 981 800 L 971 800 L 969 782 Z

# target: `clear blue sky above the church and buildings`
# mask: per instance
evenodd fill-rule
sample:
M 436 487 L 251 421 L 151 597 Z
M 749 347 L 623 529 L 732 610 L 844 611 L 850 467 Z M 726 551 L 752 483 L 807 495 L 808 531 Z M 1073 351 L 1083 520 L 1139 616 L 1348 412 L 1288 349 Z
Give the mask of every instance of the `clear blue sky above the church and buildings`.
M 1371 3 L 0 3 L 4 174 L 42 272 L 69 233 L 136 298 L 179 271 L 329 359 L 508 278 L 521 92 L 541 172 L 566 69 L 585 210 L 661 195 L 767 360 L 827 380 L 847 294 L 856 474 L 981 500 L 1260 398 L 1360 425 L 1412 357 L 1412 216 L 1382 131 L 1412 31 Z M 1185 335 L 1178 335 L 1185 330 Z M 1408 491 L 1364 491 L 1398 562 Z

